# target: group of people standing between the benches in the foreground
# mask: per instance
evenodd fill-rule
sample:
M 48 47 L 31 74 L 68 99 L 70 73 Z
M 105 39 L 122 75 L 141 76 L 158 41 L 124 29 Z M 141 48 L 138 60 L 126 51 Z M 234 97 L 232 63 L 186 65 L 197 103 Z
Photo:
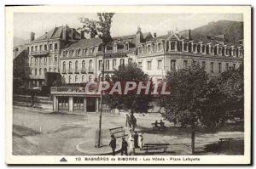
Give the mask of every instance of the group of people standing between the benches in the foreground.
M 143 134 L 133 132 L 130 130 L 130 133 L 128 134 L 128 143 L 125 140 L 125 138 L 122 138 L 122 147 L 121 147 L 121 155 L 128 155 L 128 146 L 129 146 L 129 155 L 135 155 L 135 149 L 143 149 Z M 112 148 L 112 155 L 115 155 L 115 149 L 116 149 L 116 138 L 114 138 L 113 135 L 111 135 L 111 141 L 109 143 L 110 147 Z

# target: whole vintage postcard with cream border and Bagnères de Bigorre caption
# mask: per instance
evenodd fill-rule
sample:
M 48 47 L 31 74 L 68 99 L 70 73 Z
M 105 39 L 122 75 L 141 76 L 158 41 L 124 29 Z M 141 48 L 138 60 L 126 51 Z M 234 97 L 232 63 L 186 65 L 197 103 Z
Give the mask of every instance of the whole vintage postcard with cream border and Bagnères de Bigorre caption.
M 6 163 L 251 164 L 251 6 L 6 6 Z

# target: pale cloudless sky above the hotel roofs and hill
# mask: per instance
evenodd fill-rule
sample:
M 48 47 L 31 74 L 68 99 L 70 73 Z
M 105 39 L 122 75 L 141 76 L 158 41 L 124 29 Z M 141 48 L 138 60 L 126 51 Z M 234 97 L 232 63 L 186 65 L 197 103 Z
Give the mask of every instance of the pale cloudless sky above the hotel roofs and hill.
M 80 17 L 97 20 L 95 13 L 16 13 L 14 17 L 14 36 L 29 39 L 30 32 L 35 37 L 44 35 L 55 26 L 68 25 L 79 28 Z M 218 20 L 242 21 L 242 14 L 123 14 L 113 15 L 112 37 L 135 34 L 139 26 L 143 32 L 156 32 L 157 36 L 166 35 L 167 31 L 194 29 Z

